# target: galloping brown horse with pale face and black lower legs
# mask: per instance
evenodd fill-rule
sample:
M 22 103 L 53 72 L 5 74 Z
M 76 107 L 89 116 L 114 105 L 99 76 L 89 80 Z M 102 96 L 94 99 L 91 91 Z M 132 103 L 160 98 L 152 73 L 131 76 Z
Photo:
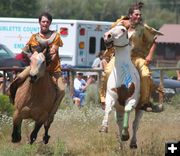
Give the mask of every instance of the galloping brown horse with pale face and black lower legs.
M 59 104 L 57 104 L 58 89 L 46 68 L 45 51 L 34 52 L 30 60 L 29 77 L 17 89 L 13 114 L 12 142 L 21 140 L 21 123 L 23 119 L 33 119 L 35 127 L 30 135 L 32 144 L 42 125 L 45 128 L 43 141 L 48 143 L 48 130 L 53 122 Z

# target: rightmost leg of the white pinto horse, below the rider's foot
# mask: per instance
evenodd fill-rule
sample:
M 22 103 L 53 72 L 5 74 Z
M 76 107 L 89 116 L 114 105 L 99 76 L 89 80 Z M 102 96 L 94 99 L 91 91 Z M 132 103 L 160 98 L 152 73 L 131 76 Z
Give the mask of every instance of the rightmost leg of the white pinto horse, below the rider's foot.
M 132 138 L 130 141 L 130 148 L 137 148 L 137 138 L 136 138 L 136 133 L 139 127 L 139 121 L 142 118 L 143 111 L 142 110 L 136 110 L 135 112 L 135 119 L 132 124 Z

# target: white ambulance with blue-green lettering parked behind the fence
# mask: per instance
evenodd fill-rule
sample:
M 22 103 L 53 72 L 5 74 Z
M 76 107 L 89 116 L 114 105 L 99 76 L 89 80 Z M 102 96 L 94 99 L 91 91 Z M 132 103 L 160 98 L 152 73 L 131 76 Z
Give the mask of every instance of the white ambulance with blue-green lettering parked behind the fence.
M 97 53 L 105 50 L 103 35 L 111 22 L 54 19 L 51 30 L 60 33 L 64 43 L 59 49 L 62 64 L 76 67 L 92 65 Z M 39 32 L 38 19 L 0 18 L 0 43 L 20 53 L 30 36 Z

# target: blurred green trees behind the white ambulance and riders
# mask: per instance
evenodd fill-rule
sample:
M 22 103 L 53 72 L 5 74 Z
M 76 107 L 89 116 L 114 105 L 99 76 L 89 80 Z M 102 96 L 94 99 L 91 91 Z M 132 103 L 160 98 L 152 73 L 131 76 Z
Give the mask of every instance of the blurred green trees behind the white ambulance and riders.
M 141 0 L 143 18 L 149 25 L 160 28 L 165 23 L 179 23 L 178 0 Z M 115 21 L 127 15 L 136 0 L 1 0 L 1 17 L 37 18 L 48 11 L 57 19 Z

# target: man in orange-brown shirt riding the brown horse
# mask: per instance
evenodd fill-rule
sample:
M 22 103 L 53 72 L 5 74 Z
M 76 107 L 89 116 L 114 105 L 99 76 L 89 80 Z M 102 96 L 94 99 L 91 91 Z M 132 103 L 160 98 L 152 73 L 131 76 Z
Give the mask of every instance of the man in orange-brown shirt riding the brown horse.
M 44 12 L 39 16 L 40 32 L 31 36 L 30 40 L 23 48 L 23 52 L 24 54 L 28 54 L 29 52 L 32 53 L 30 49 L 35 49 L 35 51 L 42 52 L 44 48 L 49 47 L 50 61 L 47 70 L 49 71 L 52 79 L 57 85 L 57 104 L 59 104 L 65 95 L 65 84 L 61 76 L 61 65 L 58 55 L 58 49 L 60 46 L 63 46 L 63 42 L 60 38 L 59 33 L 49 29 L 51 22 L 51 14 Z M 24 71 L 22 71 L 12 82 L 10 86 L 10 99 L 12 100 L 12 102 L 14 102 L 18 86 L 25 81 L 25 79 L 29 75 L 29 71 L 30 66 L 26 67 Z

